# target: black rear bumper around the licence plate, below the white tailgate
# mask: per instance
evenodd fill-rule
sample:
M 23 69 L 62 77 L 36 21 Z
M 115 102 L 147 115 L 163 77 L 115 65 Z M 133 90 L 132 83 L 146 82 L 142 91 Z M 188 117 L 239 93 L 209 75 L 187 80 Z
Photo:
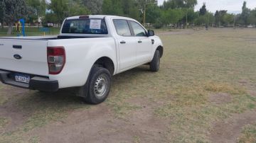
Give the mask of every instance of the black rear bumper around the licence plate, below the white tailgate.
M 25 84 L 15 81 L 13 78 L 11 78 L 11 74 L 11 71 L 0 70 L 0 81 L 4 84 L 9 84 L 11 86 L 28 88 L 38 91 L 55 92 L 59 89 L 58 81 L 51 81 L 46 77 L 33 76 L 30 79 L 29 84 Z

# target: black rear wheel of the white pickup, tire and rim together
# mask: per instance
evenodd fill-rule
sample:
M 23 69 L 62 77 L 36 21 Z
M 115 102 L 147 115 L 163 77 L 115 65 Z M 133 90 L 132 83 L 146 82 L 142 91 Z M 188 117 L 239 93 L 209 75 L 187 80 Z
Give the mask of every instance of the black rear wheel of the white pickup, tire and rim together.
M 82 86 L 82 95 L 85 102 L 99 104 L 106 100 L 110 93 L 111 74 L 110 71 L 103 67 L 93 66 L 89 79 L 85 86 Z

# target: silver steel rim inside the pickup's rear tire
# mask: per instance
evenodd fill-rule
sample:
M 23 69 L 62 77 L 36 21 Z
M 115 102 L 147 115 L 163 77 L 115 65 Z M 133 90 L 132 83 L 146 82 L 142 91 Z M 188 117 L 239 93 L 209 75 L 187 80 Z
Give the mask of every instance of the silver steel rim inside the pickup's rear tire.
M 105 95 L 107 91 L 107 79 L 105 76 L 101 75 L 97 78 L 94 86 L 95 95 L 98 97 L 102 97 Z

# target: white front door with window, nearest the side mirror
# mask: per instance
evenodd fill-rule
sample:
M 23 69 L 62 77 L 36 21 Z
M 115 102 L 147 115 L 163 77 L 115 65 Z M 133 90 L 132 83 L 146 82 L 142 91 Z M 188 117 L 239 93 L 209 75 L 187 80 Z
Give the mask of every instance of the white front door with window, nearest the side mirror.
M 137 40 L 137 64 L 149 62 L 152 51 L 151 38 L 147 36 L 146 30 L 134 21 L 129 21 L 134 38 Z

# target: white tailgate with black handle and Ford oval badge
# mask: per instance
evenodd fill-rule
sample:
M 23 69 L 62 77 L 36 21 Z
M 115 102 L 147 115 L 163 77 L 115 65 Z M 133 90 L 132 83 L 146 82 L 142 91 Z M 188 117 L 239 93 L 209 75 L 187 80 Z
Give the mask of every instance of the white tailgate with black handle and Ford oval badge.
M 0 69 L 48 75 L 48 40 L 0 39 Z

